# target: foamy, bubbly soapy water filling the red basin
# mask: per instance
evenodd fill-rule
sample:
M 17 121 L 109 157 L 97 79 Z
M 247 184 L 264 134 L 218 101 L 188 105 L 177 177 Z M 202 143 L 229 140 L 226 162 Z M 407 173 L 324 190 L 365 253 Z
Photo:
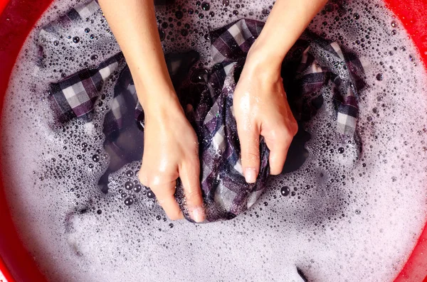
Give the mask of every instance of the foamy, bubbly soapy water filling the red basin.
M 228 222 L 171 222 L 139 162 L 97 180 L 109 165 L 102 120 L 53 124 L 49 82 L 94 67 L 119 48 L 101 12 L 57 42 L 41 26 L 76 1 L 54 1 L 28 36 L 2 116 L 6 197 L 21 239 L 51 281 L 391 281 L 426 219 L 426 77 L 401 23 L 380 1 L 327 4 L 309 28 L 367 63 L 360 93 L 362 142 L 343 143 L 325 102 L 305 125 L 305 163 L 270 177 L 267 191 Z M 265 20 L 269 1 L 176 1 L 157 8 L 164 50 L 194 48 L 209 67 L 209 31 L 238 18 Z M 13 19 L 12 19 L 13 20 Z M 40 41 L 38 41 L 40 40 Z M 38 47 L 48 57 L 38 58 Z M 329 96 L 328 96 L 329 95 Z M 324 93 L 330 97 L 329 92 Z M 325 98 L 325 101 L 330 99 Z

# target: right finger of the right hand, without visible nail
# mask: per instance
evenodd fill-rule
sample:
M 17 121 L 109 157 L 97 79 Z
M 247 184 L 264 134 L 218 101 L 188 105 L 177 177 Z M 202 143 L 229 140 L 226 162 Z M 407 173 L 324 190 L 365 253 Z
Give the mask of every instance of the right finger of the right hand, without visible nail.
M 278 175 L 282 173 L 291 141 L 292 138 L 290 136 L 274 140 L 265 139 L 265 143 L 270 149 L 270 174 Z

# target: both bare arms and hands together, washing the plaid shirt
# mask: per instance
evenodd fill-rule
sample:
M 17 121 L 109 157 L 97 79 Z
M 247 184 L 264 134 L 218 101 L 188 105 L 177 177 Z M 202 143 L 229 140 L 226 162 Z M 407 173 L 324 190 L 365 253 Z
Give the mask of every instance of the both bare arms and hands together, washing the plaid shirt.
M 176 179 L 184 185 L 196 222 L 205 219 L 200 189 L 198 143 L 164 62 L 152 0 L 100 0 L 135 81 L 144 108 L 144 156 L 139 180 L 152 189 L 170 219 L 183 217 L 174 199 Z M 279 174 L 297 132 L 280 77 L 286 53 L 326 0 L 278 0 L 252 45 L 234 93 L 241 161 L 246 182 L 260 169 L 259 140 L 270 149 L 270 173 Z M 278 36 L 283 35 L 283 36 Z

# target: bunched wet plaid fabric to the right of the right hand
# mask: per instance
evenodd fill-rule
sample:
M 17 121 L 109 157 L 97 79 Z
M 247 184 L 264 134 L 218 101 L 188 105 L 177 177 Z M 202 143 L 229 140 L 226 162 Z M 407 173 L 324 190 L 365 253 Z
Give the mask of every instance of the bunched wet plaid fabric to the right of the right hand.
M 322 52 L 310 53 L 310 50 Z M 337 75 L 339 68 L 341 72 L 345 70 L 345 75 Z M 319 92 L 331 82 L 337 111 L 337 132 L 355 137 L 359 114 L 356 97 L 365 82 L 364 68 L 354 53 L 343 50 L 336 42 L 331 43 L 305 31 L 285 58 L 283 77 L 285 89 L 292 96 L 290 102 L 298 104 L 299 110 L 294 114 L 300 120 L 308 120 L 316 114 L 323 103 Z

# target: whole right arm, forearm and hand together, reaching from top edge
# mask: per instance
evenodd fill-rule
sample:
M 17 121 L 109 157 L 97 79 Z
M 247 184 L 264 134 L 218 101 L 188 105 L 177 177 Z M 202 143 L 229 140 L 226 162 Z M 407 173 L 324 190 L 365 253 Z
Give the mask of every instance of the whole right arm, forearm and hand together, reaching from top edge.
M 234 109 L 241 141 L 243 174 L 255 182 L 260 169 L 259 136 L 270 149 L 270 173 L 283 169 L 297 132 L 280 78 L 286 53 L 327 0 L 277 0 L 251 46 L 236 92 Z

